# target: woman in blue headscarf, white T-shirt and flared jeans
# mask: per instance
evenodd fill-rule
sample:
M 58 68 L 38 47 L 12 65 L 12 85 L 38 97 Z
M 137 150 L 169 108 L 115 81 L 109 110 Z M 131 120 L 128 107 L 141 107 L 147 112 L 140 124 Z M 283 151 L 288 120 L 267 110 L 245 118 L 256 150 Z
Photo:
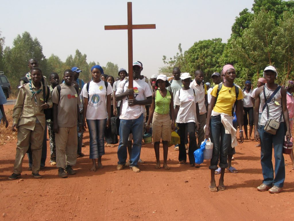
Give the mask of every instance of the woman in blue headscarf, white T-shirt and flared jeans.
M 92 159 L 91 171 L 102 169 L 101 157 L 104 150 L 104 130 L 110 127 L 111 94 L 112 87 L 108 82 L 100 79 L 103 69 L 99 65 L 91 68 L 92 79 L 85 84 L 81 95 L 83 96 L 83 127 L 86 122 L 90 135 L 90 159 Z M 107 86 L 106 86 L 107 85 Z M 98 159 L 98 166 L 96 165 Z

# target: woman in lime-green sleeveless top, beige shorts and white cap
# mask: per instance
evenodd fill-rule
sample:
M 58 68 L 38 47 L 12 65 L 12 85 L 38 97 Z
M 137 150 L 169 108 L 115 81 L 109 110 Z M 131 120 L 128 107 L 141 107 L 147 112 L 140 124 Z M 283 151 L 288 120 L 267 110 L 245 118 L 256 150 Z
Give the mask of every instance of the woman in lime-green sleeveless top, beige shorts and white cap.
M 150 123 L 151 121 L 153 121 L 152 133 L 156 156 L 155 169 L 160 169 L 159 143 L 161 139 L 163 146 L 163 169 L 169 170 L 170 167 L 166 163 L 168 154 L 168 142 L 171 141 L 171 131 L 175 130 L 173 93 L 169 90 L 166 90 L 166 88 L 170 85 L 170 83 L 168 83 L 166 75 L 158 75 L 155 85 L 159 89 L 153 92 L 153 100 L 150 108 L 146 130 L 149 131 Z

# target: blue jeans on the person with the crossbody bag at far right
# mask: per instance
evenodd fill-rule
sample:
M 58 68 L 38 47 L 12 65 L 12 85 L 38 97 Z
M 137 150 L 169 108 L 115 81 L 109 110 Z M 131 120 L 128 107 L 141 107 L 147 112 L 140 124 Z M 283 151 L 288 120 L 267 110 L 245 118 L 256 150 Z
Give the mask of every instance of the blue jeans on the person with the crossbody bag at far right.
M 264 131 L 264 126 L 259 126 L 259 136 L 261 145 L 260 163 L 263 174 L 263 183 L 267 186 L 283 187 L 285 180 L 285 162 L 283 156 L 283 142 L 285 137 L 284 122 L 276 134 L 270 134 Z M 274 146 L 275 157 L 275 177 L 272 163 L 272 152 Z

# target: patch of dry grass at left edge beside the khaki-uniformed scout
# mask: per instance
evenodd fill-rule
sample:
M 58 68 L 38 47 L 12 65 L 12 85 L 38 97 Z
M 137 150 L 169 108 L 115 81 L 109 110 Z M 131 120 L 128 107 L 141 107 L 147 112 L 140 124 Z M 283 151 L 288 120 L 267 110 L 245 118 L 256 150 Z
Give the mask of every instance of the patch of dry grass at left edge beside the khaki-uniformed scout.
M 9 123 L 7 128 L 5 128 L 2 121 L 0 123 L 0 145 L 6 144 L 7 141 L 14 141 L 17 139 L 17 132 L 11 130 L 12 113 L 12 109 L 5 110 L 5 115 Z

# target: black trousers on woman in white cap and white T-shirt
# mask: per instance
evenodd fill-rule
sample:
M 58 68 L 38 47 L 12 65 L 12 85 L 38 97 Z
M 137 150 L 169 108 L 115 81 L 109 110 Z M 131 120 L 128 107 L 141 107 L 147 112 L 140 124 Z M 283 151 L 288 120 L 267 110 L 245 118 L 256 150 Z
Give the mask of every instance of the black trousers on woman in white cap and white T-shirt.
M 186 154 L 186 148 L 185 148 L 185 131 L 187 130 L 189 134 L 189 150 L 188 150 L 188 157 L 189 157 L 189 163 L 194 164 L 195 158 L 194 158 L 194 151 L 197 149 L 197 142 L 196 142 L 196 136 L 195 136 L 195 122 L 189 122 L 189 123 L 177 123 L 177 126 L 179 128 L 178 135 L 180 136 L 180 144 L 179 144 L 179 161 L 187 161 L 187 154 Z

